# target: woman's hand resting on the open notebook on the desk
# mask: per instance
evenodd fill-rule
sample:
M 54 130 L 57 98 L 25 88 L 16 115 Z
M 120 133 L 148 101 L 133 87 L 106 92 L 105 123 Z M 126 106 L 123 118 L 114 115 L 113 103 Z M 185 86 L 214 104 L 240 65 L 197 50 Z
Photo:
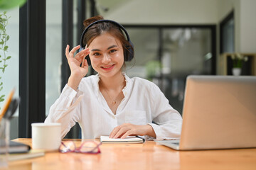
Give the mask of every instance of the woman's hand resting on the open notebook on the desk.
M 156 137 L 154 129 L 151 125 L 134 125 L 131 123 L 124 123 L 117 126 L 110 133 L 110 138 L 122 138 L 124 139 L 127 136 L 144 136 L 149 135 L 151 137 Z

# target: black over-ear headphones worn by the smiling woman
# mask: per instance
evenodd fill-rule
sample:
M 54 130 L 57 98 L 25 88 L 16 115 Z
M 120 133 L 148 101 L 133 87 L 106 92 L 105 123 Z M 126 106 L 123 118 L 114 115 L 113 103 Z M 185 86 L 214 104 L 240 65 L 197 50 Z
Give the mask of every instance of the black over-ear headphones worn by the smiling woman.
M 80 39 L 80 50 L 79 51 L 83 50 L 85 45 L 86 45 L 86 44 L 83 44 L 83 39 L 84 39 L 84 36 L 85 36 L 85 33 L 87 32 L 87 30 L 89 30 L 89 28 L 92 25 L 94 25 L 95 23 L 103 23 L 103 22 L 113 23 L 115 26 L 118 26 L 119 28 L 121 28 L 124 31 L 124 33 L 127 37 L 127 41 L 129 42 L 129 45 L 126 45 L 124 47 L 124 61 L 125 62 L 131 61 L 134 57 L 134 49 L 133 49 L 134 46 L 132 44 L 132 41 L 129 39 L 129 35 L 127 33 L 127 30 L 125 30 L 122 25 L 120 25 L 119 23 L 117 23 L 115 21 L 112 21 L 112 20 L 98 20 L 98 21 L 95 21 L 95 22 L 91 23 L 89 26 L 87 26 L 87 28 L 85 28 L 85 30 L 82 32 L 82 36 L 81 36 L 81 39 Z M 91 62 L 90 62 L 89 55 L 86 56 L 86 60 L 87 60 L 88 65 L 90 65 Z

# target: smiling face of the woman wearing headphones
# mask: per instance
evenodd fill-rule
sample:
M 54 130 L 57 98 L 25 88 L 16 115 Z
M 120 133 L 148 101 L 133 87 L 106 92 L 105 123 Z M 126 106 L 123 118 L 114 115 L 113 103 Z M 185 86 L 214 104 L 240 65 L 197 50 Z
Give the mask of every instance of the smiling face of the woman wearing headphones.
M 124 52 L 121 42 L 110 33 L 97 36 L 89 45 L 92 68 L 103 77 L 122 72 Z

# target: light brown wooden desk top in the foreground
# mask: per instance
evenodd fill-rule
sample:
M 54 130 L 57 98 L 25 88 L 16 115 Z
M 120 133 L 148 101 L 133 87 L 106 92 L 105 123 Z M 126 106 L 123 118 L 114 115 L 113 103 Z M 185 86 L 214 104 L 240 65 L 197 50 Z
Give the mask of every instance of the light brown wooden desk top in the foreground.
M 31 145 L 31 139 L 15 141 Z M 81 140 L 75 140 L 80 144 Z M 45 157 L 9 162 L 8 169 L 256 169 L 256 149 L 177 152 L 149 141 L 102 144 L 101 154 L 46 153 Z

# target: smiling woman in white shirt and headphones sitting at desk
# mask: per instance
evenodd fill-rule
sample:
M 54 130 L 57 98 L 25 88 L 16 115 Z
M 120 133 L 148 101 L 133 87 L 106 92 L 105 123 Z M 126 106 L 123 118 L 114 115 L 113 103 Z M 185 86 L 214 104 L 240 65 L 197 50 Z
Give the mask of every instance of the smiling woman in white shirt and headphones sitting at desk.
M 89 18 L 84 25 L 81 45 L 72 50 L 66 47 L 71 74 L 45 122 L 61 123 L 62 137 L 78 122 L 83 139 L 101 135 L 178 139 L 181 115 L 158 86 L 138 77 L 131 79 L 122 72 L 124 62 L 134 57 L 126 30 L 102 16 Z M 90 58 L 85 60 L 87 55 Z M 85 77 L 89 64 L 97 75 Z

